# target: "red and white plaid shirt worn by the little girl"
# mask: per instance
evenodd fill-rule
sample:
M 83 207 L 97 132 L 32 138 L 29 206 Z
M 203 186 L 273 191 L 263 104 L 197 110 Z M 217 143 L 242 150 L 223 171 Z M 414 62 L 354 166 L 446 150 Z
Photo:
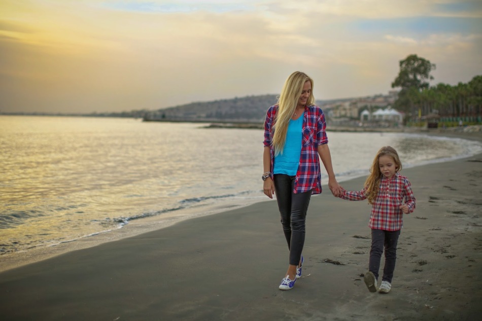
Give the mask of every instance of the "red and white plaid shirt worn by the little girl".
M 343 190 L 340 196 L 351 201 L 366 199 L 365 189 L 359 192 Z M 370 223 L 371 229 L 397 231 L 402 228 L 403 212 L 400 205 L 408 206 L 408 212 L 415 210 L 415 196 L 411 191 L 411 184 L 407 177 L 398 172 L 389 180 L 383 176 L 380 180 L 380 190 L 375 202 L 371 207 Z

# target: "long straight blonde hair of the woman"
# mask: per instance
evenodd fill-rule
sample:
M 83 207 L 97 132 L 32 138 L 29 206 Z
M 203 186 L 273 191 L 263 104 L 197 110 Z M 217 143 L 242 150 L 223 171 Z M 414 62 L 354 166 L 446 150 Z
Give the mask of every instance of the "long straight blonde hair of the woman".
M 278 98 L 278 112 L 273 124 L 273 138 L 271 145 L 274 147 L 276 155 L 283 153 L 283 148 L 286 141 L 286 133 L 288 131 L 288 124 L 298 104 L 299 96 L 303 91 L 304 83 L 309 81 L 312 85 L 311 93 L 306 101 L 306 105 L 315 104 L 315 97 L 313 96 L 313 79 L 302 72 L 294 72 L 285 81 L 280 97 Z

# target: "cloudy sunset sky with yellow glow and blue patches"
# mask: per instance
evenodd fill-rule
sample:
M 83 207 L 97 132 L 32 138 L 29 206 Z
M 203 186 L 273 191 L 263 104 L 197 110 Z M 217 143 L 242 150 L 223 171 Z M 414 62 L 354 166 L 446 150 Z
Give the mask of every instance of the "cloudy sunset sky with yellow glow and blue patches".
M 2 0 L 0 112 L 279 94 L 296 70 L 317 100 L 387 94 L 410 54 L 433 85 L 481 75 L 482 0 Z

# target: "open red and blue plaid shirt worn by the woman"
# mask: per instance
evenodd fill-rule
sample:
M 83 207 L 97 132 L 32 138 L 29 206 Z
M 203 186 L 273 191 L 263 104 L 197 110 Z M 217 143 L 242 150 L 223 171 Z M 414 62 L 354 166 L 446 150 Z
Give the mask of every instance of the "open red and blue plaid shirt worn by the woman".
M 271 106 L 266 112 L 264 122 L 264 146 L 269 147 L 271 153 L 271 169 L 273 172 L 274 147 L 271 146 L 273 137 L 273 122 L 276 120 L 278 105 Z M 326 136 L 325 115 L 321 108 L 315 105 L 305 106 L 303 114 L 301 154 L 296 172 L 293 193 L 304 193 L 309 190 L 312 194 L 321 193 L 321 171 L 318 146 L 328 144 Z

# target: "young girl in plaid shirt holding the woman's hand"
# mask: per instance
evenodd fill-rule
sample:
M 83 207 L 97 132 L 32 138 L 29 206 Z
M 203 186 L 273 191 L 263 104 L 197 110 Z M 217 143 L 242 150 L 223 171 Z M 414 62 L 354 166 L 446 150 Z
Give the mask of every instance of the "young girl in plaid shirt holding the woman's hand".
M 351 201 L 368 199 L 372 205 L 370 222 L 371 249 L 364 281 L 370 292 L 376 292 L 380 260 L 385 248 L 385 267 L 378 292 L 389 293 L 397 258 L 397 242 L 403 214 L 415 210 L 415 197 L 410 182 L 398 172 L 402 169 L 397 151 L 382 147 L 375 156 L 365 188 L 359 192 L 342 189 L 341 198 Z

